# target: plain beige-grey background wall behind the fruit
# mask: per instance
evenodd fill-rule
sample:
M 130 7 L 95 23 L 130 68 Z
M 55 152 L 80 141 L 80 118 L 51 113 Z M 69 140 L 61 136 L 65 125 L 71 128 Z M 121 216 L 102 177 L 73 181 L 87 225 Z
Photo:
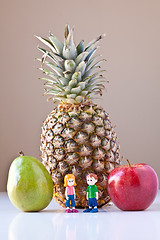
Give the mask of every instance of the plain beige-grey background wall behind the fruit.
M 95 102 L 117 126 L 124 159 L 148 163 L 160 176 L 159 0 L 5 0 L 0 23 L 0 191 L 6 191 L 9 166 L 20 150 L 40 159 L 42 121 L 53 108 L 42 97 L 34 34 L 51 31 L 63 40 L 66 23 L 74 26 L 76 43 L 106 33 L 99 53 L 108 60 L 103 67 L 110 83 Z

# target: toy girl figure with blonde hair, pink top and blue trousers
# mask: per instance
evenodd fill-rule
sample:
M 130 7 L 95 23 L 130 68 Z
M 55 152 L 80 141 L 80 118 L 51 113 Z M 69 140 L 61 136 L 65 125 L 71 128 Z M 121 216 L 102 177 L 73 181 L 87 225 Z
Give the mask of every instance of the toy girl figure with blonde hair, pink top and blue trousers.
M 67 174 L 64 177 L 64 186 L 66 187 L 65 196 L 66 196 L 66 212 L 67 213 L 77 213 L 78 211 L 75 209 L 75 189 L 76 186 L 75 176 L 73 174 Z M 71 203 L 70 203 L 71 202 Z M 70 209 L 70 206 L 72 209 Z

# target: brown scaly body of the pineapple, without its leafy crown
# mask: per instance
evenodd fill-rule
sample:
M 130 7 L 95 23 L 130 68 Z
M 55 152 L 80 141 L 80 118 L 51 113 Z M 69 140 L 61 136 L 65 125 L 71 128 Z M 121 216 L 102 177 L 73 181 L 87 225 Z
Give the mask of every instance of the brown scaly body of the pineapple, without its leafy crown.
M 59 104 L 48 115 L 42 126 L 42 163 L 54 183 L 53 197 L 65 207 L 64 176 L 75 175 L 76 207 L 88 206 L 86 176 L 98 176 L 98 207 L 110 201 L 107 177 L 119 166 L 120 146 L 109 119 L 100 106 L 87 101 L 83 104 Z

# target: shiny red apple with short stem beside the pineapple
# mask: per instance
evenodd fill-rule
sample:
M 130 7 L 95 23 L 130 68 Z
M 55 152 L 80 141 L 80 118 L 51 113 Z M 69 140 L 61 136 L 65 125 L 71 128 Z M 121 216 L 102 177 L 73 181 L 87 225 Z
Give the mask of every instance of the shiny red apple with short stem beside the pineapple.
M 112 202 L 126 211 L 148 208 L 157 195 L 158 186 L 156 172 L 145 163 L 119 166 L 110 172 L 107 180 Z

